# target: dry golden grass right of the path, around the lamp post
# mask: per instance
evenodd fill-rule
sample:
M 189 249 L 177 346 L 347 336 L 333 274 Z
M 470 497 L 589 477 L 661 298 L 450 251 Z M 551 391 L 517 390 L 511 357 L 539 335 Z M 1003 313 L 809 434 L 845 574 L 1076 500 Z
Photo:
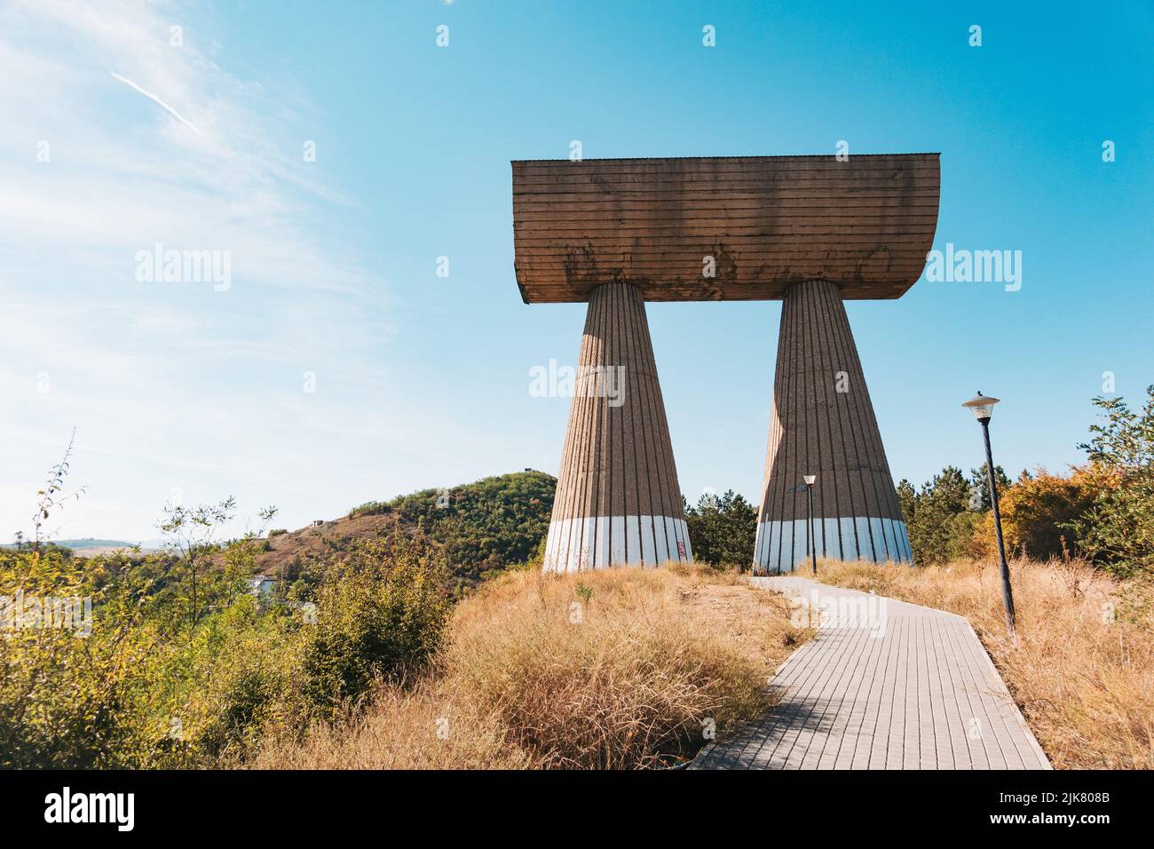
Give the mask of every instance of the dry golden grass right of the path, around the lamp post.
M 1119 581 L 1079 561 L 1014 560 L 1014 645 L 998 569 L 989 563 L 899 568 L 827 561 L 818 578 L 969 619 L 1055 767 L 1154 767 L 1148 582 Z

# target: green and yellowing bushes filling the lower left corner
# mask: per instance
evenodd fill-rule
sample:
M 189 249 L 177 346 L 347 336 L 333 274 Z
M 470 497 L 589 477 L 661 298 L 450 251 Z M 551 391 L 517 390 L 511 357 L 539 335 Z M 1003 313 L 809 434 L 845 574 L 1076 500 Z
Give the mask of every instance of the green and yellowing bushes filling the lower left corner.
M 439 648 L 449 608 L 435 548 L 406 535 L 364 544 L 307 588 L 312 608 L 248 591 L 256 543 L 195 569 L 171 554 L 0 551 L 0 596 L 87 597 L 92 611 L 88 636 L 0 623 L 0 767 L 243 761 Z

